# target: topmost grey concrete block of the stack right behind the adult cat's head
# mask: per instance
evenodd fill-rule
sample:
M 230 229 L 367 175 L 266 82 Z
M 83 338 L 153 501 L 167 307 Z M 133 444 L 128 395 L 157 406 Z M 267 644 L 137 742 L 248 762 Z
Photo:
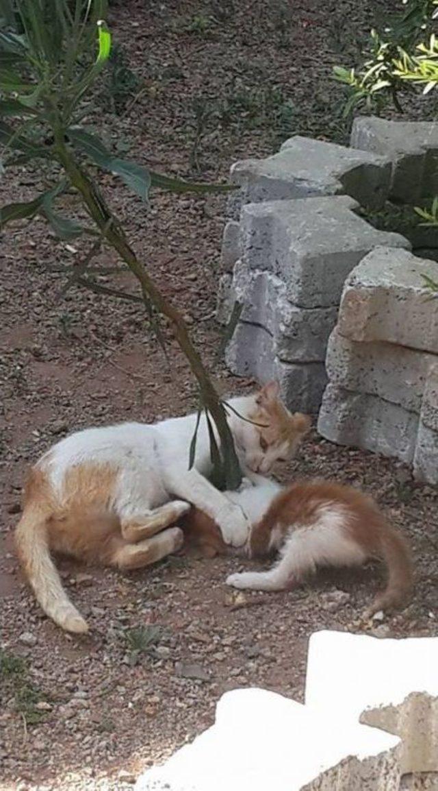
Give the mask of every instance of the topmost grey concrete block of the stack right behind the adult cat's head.
M 410 247 L 398 233 L 378 231 L 354 214 L 357 207 L 346 195 L 244 206 L 242 259 L 281 278 L 294 305 L 339 305 L 347 275 L 373 248 Z

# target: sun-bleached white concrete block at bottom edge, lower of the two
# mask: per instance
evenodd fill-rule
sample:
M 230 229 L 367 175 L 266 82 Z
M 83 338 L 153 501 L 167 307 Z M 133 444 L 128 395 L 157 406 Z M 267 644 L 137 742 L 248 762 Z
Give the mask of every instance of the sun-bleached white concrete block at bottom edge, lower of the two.
M 215 724 L 135 791 L 397 791 L 399 739 L 313 713 L 275 692 L 243 689 L 219 700 Z

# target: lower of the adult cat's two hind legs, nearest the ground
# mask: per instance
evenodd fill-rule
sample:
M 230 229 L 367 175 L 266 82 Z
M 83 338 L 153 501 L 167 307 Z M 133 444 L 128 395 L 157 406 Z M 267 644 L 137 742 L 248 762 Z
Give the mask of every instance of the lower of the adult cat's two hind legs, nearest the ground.
M 178 551 L 183 541 L 184 534 L 180 528 L 167 528 L 152 538 L 118 546 L 114 549 L 111 565 L 124 571 L 142 569 Z

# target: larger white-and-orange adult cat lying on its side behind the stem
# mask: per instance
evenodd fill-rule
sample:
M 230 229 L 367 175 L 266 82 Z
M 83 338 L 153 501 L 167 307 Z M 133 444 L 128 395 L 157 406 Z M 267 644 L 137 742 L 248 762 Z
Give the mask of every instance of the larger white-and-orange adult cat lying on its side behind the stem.
M 246 476 L 266 475 L 276 460 L 290 458 L 308 418 L 290 414 L 277 383 L 229 403 L 242 416 L 228 412 Z M 148 566 L 182 546 L 181 529 L 170 525 L 190 504 L 215 520 L 226 543 L 245 543 L 249 523 L 241 505 L 204 477 L 212 471 L 204 415 L 189 469 L 196 425 L 197 414 L 189 414 L 80 431 L 32 468 L 16 528 L 17 553 L 40 606 L 62 629 L 81 633 L 88 624 L 62 589 L 51 551 L 122 570 Z

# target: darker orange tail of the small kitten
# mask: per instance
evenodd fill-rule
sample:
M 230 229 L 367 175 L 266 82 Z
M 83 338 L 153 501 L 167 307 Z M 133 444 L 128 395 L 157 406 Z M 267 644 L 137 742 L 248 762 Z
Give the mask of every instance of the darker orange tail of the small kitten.
M 388 524 L 380 537 L 380 554 L 387 566 L 388 581 L 386 589 L 372 602 L 369 615 L 401 607 L 414 588 L 414 573 L 406 541 Z

